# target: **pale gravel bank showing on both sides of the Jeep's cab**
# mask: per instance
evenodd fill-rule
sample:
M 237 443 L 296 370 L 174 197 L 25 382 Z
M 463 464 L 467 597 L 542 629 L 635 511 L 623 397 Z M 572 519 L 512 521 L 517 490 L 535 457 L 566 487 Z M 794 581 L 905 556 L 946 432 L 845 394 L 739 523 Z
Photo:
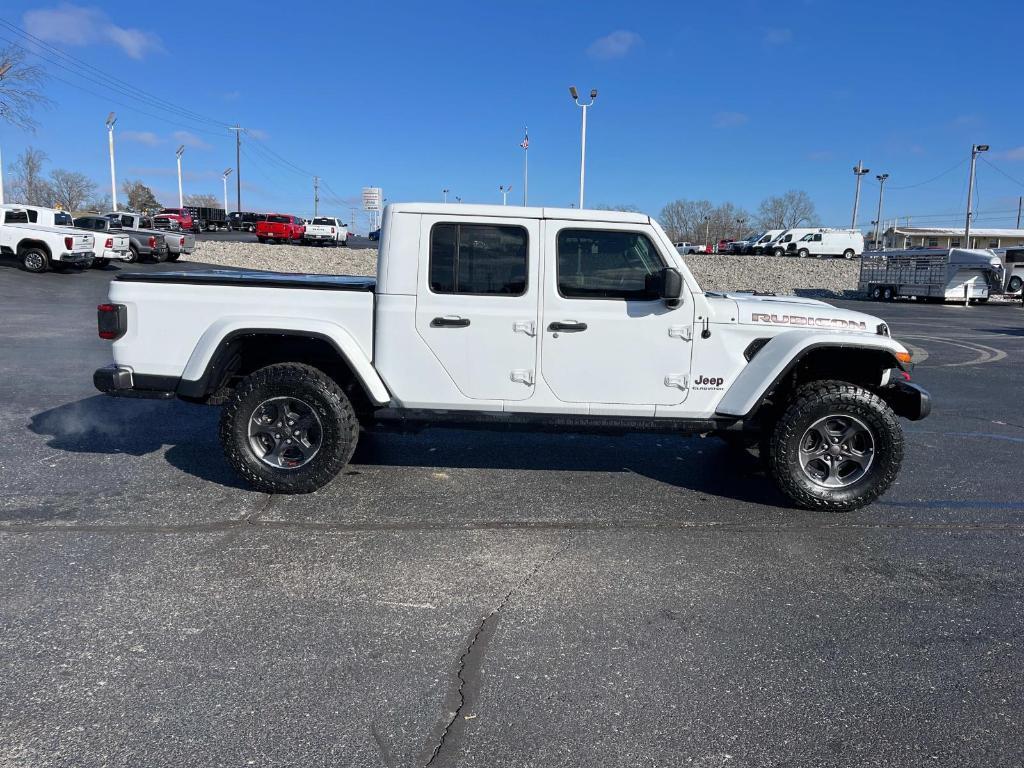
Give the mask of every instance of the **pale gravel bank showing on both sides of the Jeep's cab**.
M 321 274 L 373 274 L 376 249 L 314 248 L 205 241 L 190 261 L 208 264 Z M 709 291 L 757 289 L 777 294 L 851 297 L 857 290 L 859 261 L 795 259 L 724 254 L 686 257 L 702 288 Z

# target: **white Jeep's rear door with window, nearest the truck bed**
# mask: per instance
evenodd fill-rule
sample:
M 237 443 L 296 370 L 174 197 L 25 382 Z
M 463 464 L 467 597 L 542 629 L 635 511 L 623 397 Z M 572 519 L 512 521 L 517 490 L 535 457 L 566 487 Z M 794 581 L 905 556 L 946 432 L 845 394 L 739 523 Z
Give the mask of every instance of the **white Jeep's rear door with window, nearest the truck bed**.
M 469 399 L 524 400 L 537 376 L 538 219 L 423 216 L 416 330 Z

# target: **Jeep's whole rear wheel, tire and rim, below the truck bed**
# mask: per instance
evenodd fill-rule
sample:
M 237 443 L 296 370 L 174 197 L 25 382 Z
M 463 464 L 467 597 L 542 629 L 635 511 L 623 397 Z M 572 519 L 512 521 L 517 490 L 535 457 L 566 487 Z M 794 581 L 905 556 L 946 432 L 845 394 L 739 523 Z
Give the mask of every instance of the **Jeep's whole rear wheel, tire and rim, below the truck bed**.
M 261 368 L 220 416 L 220 443 L 234 471 L 264 494 L 309 494 L 352 457 L 355 411 L 337 382 L 297 362 Z

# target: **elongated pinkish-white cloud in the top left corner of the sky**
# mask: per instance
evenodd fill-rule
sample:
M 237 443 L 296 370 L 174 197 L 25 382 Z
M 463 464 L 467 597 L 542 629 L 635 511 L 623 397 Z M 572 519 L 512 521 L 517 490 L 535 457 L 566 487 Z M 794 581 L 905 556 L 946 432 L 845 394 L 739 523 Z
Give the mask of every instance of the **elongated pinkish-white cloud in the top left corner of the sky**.
M 55 8 L 26 11 L 26 31 L 48 43 L 95 45 L 113 43 L 130 58 L 163 50 L 160 38 L 142 30 L 114 24 L 101 8 L 60 3 Z

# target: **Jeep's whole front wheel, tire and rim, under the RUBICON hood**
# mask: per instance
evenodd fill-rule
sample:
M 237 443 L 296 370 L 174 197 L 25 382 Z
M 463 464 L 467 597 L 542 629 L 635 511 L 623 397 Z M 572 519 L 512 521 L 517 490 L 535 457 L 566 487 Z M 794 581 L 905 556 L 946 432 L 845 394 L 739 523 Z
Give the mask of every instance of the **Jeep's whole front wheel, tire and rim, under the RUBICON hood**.
M 794 392 L 768 439 L 768 469 L 798 507 L 849 512 L 884 494 L 903 462 L 903 432 L 874 393 L 842 381 Z

